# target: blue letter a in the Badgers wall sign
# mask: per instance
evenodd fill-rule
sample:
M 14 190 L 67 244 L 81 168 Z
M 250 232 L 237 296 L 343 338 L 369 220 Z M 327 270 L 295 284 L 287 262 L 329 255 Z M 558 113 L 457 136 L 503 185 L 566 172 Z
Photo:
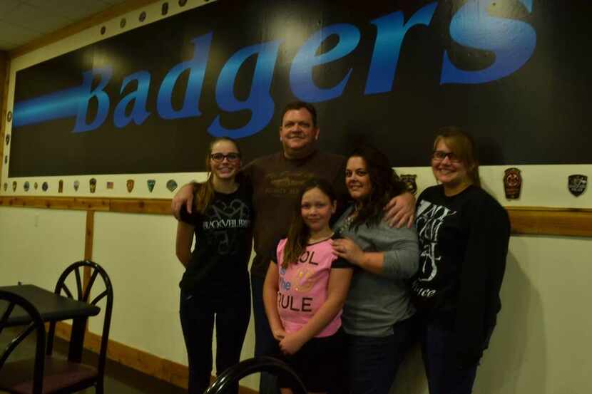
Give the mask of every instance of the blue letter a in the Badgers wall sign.
M 123 90 L 126 89 L 126 86 L 131 81 L 138 81 L 138 88 L 122 98 L 115 108 L 115 113 L 113 113 L 113 123 L 118 128 L 127 126 L 132 120 L 136 125 L 141 125 L 150 116 L 150 113 L 146 110 L 148 88 L 150 88 L 150 73 L 148 71 L 138 71 L 130 76 L 126 76 L 123 83 L 121 83 L 119 93 L 123 93 Z M 132 102 L 131 114 L 126 116 L 126 108 Z

